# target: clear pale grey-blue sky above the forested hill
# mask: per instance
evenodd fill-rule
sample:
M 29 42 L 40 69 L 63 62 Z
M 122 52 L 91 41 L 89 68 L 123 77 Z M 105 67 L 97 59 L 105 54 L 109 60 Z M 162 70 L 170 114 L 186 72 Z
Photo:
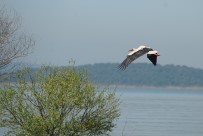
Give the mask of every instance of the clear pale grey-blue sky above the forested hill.
M 128 50 L 159 51 L 158 64 L 203 69 L 202 0 L 0 0 L 36 44 L 33 64 L 120 63 Z M 146 56 L 136 62 L 150 63 Z M 134 62 L 134 63 L 136 63 Z

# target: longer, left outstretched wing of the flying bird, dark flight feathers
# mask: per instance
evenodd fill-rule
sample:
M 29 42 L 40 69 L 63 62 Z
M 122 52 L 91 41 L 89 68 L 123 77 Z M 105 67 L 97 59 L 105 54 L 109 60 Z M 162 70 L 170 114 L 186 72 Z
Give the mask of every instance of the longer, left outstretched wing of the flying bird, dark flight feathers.
M 127 58 L 118 66 L 118 68 L 121 70 L 125 70 L 131 62 L 133 62 L 140 56 L 144 55 L 148 51 L 149 51 L 149 48 L 143 48 L 134 53 L 130 53 L 130 55 L 127 56 Z

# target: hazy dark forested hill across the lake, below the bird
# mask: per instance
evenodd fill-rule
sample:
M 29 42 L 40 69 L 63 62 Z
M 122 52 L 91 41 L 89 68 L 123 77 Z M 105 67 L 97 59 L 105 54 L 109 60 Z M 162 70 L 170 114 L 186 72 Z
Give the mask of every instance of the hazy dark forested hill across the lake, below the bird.
M 116 63 L 79 66 L 86 68 L 90 80 L 98 84 L 137 86 L 203 86 L 203 70 L 176 65 L 133 63 L 126 70 Z

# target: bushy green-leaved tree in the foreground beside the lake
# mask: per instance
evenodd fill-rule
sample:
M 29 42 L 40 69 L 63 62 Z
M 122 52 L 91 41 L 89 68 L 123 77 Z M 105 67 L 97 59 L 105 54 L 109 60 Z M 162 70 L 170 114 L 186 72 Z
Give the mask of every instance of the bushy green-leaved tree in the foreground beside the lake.
M 108 135 L 115 126 L 115 92 L 89 83 L 84 70 L 43 67 L 33 73 L 26 68 L 17 75 L 15 85 L 0 90 L 1 127 L 11 134 Z

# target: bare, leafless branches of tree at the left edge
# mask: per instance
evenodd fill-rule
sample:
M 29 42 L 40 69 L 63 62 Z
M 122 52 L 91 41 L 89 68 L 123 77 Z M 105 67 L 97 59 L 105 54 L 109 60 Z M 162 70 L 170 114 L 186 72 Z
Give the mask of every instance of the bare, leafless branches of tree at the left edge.
M 21 18 L 16 12 L 0 7 L 0 76 L 8 71 L 13 60 L 31 53 L 33 45 L 31 36 L 22 32 Z

